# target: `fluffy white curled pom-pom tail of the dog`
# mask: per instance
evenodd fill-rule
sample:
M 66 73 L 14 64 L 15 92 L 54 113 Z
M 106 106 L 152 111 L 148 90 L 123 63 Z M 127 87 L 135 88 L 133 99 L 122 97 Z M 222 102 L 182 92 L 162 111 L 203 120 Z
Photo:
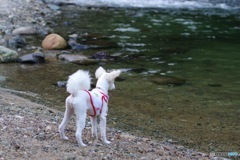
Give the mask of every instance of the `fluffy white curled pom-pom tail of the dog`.
M 78 90 L 89 90 L 91 87 L 91 77 L 88 71 L 78 70 L 69 76 L 67 81 L 67 91 L 76 95 Z

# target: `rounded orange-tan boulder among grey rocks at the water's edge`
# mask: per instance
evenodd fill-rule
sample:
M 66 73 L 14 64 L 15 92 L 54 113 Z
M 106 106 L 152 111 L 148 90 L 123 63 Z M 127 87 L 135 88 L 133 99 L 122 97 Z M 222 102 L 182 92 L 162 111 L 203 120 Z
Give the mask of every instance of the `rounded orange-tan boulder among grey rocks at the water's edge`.
M 49 34 L 42 42 L 43 49 L 54 50 L 54 49 L 65 49 L 67 42 L 63 37 L 58 34 Z

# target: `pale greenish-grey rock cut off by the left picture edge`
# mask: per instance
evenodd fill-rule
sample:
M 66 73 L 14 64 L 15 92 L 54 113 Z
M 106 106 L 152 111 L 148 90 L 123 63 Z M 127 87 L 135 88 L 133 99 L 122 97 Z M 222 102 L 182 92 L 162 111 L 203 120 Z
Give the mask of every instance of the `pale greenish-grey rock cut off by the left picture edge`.
M 18 53 L 14 50 L 0 46 L 0 62 L 15 62 L 18 59 Z

